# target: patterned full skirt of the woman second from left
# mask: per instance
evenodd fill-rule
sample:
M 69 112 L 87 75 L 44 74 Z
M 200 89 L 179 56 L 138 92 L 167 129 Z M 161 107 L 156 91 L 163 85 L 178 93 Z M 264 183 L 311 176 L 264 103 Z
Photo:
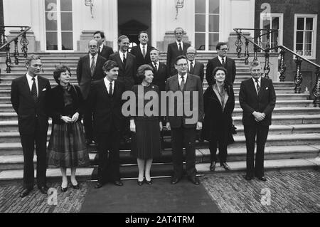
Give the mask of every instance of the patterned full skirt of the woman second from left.
M 90 164 L 81 122 L 53 125 L 48 144 L 48 165 L 84 167 Z

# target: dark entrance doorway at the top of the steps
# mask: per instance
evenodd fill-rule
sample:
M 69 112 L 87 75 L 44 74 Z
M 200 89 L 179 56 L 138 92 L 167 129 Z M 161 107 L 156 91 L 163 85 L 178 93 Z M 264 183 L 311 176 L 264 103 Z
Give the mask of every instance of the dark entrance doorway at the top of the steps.
M 118 0 L 118 34 L 139 45 L 139 31 L 146 31 L 151 45 L 151 0 Z M 131 46 L 131 45 L 130 45 Z

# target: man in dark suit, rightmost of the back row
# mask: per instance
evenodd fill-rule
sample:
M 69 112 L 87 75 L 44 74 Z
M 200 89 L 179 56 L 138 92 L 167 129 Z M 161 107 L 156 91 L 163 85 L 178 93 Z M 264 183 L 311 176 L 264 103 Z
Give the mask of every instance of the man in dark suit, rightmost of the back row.
M 168 51 L 166 51 L 166 67 L 168 67 L 168 74 L 176 75 L 176 68 L 174 67 L 174 62 L 176 57 L 186 55 L 186 50 L 190 46 L 190 43 L 185 43 L 182 41 L 183 29 L 174 29 L 174 36 L 176 36 L 176 42 L 170 43 L 168 45 Z

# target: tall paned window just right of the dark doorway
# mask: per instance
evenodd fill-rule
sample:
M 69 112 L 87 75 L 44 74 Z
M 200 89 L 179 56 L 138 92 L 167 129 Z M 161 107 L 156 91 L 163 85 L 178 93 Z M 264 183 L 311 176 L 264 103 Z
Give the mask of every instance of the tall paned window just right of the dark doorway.
M 220 0 L 196 0 L 195 46 L 198 51 L 215 51 L 220 36 Z

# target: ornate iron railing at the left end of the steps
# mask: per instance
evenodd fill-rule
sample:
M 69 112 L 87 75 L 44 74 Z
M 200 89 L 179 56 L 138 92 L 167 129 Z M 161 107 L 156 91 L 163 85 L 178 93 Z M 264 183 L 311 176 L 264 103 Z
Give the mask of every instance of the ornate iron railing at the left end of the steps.
M 20 33 L 8 40 L 6 36 L 6 28 L 20 28 Z M 26 38 L 26 33 L 31 27 L 29 26 L 0 26 L 0 51 L 6 51 L 6 73 L 11 73 L 12 61 L 10 56 L 10 46 L 14 43 L 14 63 L 18 65 L 19 63 L 19 51 L 18 51 L 18 38 L 20 38 L 21 52 L 23 57 L 28 56 L 28 39 Z

